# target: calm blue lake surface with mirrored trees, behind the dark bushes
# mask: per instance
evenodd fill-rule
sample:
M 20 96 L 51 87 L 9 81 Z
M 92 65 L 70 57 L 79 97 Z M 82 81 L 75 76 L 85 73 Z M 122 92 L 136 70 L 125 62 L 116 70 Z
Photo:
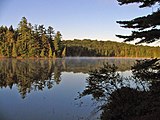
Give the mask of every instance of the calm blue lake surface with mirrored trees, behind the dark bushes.
M 116 64 L 128 76 L 135 59 L 1 59 L 0 120 L 97 119 L 91 96 L 75 98 L 84 90 L 88 72 L 104 62 Z

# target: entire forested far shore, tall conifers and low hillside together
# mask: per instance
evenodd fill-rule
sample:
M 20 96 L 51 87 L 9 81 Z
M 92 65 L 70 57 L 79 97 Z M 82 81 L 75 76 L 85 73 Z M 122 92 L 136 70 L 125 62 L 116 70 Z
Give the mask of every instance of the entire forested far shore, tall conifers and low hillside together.
M 0 57 L 57 58 L 65 56 L 159 58 L 160 47 L 113 41 L 63 40 L 59 31 L 32 25 L 23 17 L 18 28 L 0 27 Z

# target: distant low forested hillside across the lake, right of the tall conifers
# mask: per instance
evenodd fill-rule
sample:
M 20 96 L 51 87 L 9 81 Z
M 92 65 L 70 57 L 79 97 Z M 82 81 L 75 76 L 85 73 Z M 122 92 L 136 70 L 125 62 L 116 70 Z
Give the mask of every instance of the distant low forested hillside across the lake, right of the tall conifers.
M 66 56 L 160 57 L 160 47 L 131 45 L 113 41 L 66 40 Z

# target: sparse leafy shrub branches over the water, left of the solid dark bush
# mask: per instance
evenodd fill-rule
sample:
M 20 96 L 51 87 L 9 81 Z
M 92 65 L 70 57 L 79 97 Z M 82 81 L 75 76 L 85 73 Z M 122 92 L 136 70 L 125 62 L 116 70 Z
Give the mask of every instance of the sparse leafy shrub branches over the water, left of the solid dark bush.
M 117 67 L 108 63 L 104 64 L 99 70 L 91 71 L 87 79 L 88 85 L 81 96 L 92 94 L 93 98 L 99 100 L 108 94 L 110 95 L 116 87 L 117 80 L 121 79 L 116 71 Z

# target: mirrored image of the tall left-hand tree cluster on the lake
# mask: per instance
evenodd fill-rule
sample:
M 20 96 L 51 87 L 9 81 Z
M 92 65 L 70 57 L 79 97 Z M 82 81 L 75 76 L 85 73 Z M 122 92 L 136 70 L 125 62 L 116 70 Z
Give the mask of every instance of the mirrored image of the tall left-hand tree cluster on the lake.
M 60 63 L 59 63 L 60 64 Z M 32 90 L 51 89 L 61 79 L 61 65 L 52 60 L 4 59 L 0 62 L 0 87 L 16 85 L 22 98 Z

